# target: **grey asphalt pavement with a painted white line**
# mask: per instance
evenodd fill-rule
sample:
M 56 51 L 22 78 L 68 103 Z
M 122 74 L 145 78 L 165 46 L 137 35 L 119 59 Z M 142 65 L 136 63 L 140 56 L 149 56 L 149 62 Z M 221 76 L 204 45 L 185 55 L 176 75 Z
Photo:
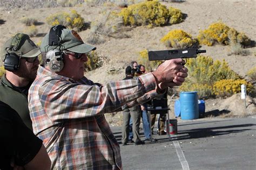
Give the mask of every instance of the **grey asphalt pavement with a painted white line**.
M 119 144 L 121 128 L 112 127 Z M 256 169 L 256 116 L 179 123 L 157 143 L 120 145 L 124 169 Z M 144 139 L 143 130 L 140 136 Z

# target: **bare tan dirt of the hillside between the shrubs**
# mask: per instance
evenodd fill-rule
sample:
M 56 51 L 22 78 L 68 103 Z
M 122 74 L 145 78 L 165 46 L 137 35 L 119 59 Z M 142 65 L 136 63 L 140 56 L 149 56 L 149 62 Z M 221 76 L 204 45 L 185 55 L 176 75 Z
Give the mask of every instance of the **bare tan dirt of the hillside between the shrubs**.
M 22 1 L 19 1 L 22 2 Z M 24 1 L 26 2 L 26 1 Z M 256 40 L 256 1 L 255 0 L 187 0 L 184 3 L 167 3 L 166 6 L 173 6 L 180 9 L 187 15 L 183 23 L 171 26 L 154 27 L 149 29 L 144 26 L 127 29 L 123 32 L 124 37 L 104 37 L 103 44 L 96 45 L 97 52 L 107 57 L 109 62 L 103 67 L 85 73 L 85 76 L 94 82 L 103 83 L 106 81 L 116 81 L 124 78 L 124 68 L 133 60 L 137 60 L 139 52 L 144 49 L 166 49 L 160 43 L 160 39 L 172 29 L 182 29 L 190 33 L 193 37 L 198 35 L 199 30 L 207 29 L 213 22 L 221 20 L 226 25 L 233 27 L 238 32 L 244 32 L 251 38 L 252 42 Z M 32 40 L 36 43 L 41 41 L 43 36 L 49 31 L 50 25 L 46 24 L 45 19 L 53 13 L 66 11 L 70 12 L 75 9 L 86 22 L 95 22 L 104 17 L 104 11 L 111 10 L 111 6 L 86 6 L 85 4 L 76 7 L 58 7 L 58 8 L 40 8 L 30 9 L 21 6 L 21 8 L 10 8 L 9 10 L 1 7 L 0 9 L 0 46 L 2 49 L 3 42 L 18 32 L 24 32 L 26 26 L 21 23 L 20 19 L 24 16 L 28 18 L 36 18 L 38 25 L 37 37 Z M 82 39 L 86 39 L 90 30 L 79 32 Z M 203 46 L 206 49 L 206 55 L 211 56 L 214 60 L 225 59 L 228 65 L 240 76 L 247 79 L 246 73 L 252 67 L 256 66 L 256 47 L 253 45 L 248 48 L 250 55 L 228 55 L 230 53 L 229 46 L 215 45 L 212 47 Z M 120 69 L 118 74 L 107 73 L 111 68 Z M 169 107 L 173 109 L 173 103 L 176 98 L 169 99 Z M 210 99 L 205 101 L 206 117 L 225 118 L 228 116 L 247 116 L 256 114 L 255 98 L 248 96 L 246 98 L 247 107 L 244 100 L 241 100 L 240 94 L 232 97 L 220 99 Z M 173 116 L 171 111 L 170 116 Z M 122 123 L 122 114 L 106 114 L 107 121 L 111 125 L 120 125 Z

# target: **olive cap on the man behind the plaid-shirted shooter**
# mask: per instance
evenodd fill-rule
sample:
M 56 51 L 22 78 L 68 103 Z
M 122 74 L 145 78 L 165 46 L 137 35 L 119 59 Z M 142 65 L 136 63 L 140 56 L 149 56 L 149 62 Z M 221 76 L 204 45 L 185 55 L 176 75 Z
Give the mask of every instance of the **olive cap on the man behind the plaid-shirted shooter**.
M 18 56 L 32 58 L 41 54 L 41 51 L 27 34 L 17 33 L 4 43 L 2 60 L 5 59 L 5 54 L 7 53 L 15 53 Z

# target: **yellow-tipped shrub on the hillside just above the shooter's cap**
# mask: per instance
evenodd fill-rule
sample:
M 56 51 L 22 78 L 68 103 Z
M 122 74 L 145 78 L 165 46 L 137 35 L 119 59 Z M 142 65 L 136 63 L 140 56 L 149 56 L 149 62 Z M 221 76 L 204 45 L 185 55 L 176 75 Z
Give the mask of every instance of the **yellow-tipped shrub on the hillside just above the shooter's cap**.
M 81 17 L 76 10 L 71 10 L 71 13 L 59 12 L 46 18 L 46 23 L 49 25 L 65 25 L 70 29 L 80 31 L 84 26 L 84 18 Z

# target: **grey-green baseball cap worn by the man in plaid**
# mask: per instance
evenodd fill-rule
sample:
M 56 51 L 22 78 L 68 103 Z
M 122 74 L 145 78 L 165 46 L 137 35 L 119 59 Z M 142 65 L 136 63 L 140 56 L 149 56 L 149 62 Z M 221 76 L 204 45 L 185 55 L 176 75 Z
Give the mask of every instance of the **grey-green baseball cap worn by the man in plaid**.
M 69 51 L 76 52 L 76 53 L 87 53 L 92 50 L 95 50 L 96 47 L 85 44 L 82 38 L 78 35 L 78 33 L 74 30 L 69 29 L 62 29 L 62 33 L 60 35 L 60 42 L 59 45 L 49 45 L 49 34 L 47 33 L 41 44 L 41 51 L 48 52 L 52 49 L 68 49 Z

